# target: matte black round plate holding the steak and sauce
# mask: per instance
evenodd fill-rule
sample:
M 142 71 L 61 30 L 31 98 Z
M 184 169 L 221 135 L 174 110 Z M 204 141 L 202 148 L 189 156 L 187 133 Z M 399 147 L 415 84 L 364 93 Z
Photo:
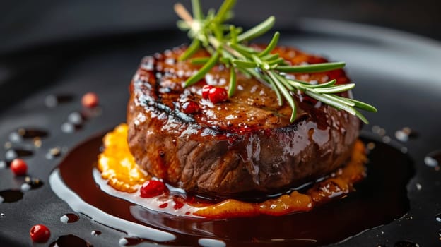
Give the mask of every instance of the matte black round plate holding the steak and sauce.
M 407 186 L 411 201 L 408 214 L 339 246 L 394 246 L 404 240 L 420 246 L 440 245 L 441 222 L 435 216 L 441 212 L 441 173 L 426 165 L 424 158 L 441 148 L 441 44 L 394 30 L 324 20 L 305 20 L 282 34 L 281 44 L 346 61 L 348 74 L 357 83 L 356 97 L 379 109 L 377 114 L 366 114 L 371 125 L 364 126 L 363 131 L 371 133 L 373 126 L 384 128 L 387 137 L 381 138 L 391 140 L 395 147 L 406 147 L 414 160 L 416 174 Z M 39 148 L 30 140 L 13 143 L 33 150 L 34 155 L 25 157 L 28 173 L 45 185 L 24 193 L 23 200 L 16 203 L 0 203 L 0 213 L 4 214 L 0 216 L 0 246 L 31 245 L 28 231 L 41 223 L 52 229 L 49 242 L 57 236 L 75 234 L 94 246 L 117 246 L 124 233 L 88 217 L 81 216 L 74 224 L 60 223 L 61 215 L 71 209 L 51 191 L 48 177 L 64 154 L 54 159 L 45 155 L 51 147 L 70 149 L 90 135 L 124 122 L 129 81 L 142 56 L 182 42 L 186 42 L 185 35 L 170 29 L 47 44 L 3 56 L 1 145 L 20 127 L 42 128 L 49 136 L 42 138 Z M 88 91 L 100 96 L 102 114 L 85 121 L 76 133 L 62 132 L 62 123 L 69 113 L 81 111 L 81 95 Z M 51 94 L 68 95 L 70 99 L 48 108 L 45 98 Z M 404 127 L 418 135 L 400 143 L 394 133 Z M 23 178 L 14 177 L 9 169 L 0 169 L 0 191 L 20 189 L 22 183 Z M 102 234 L 91 236 L 93 230 Z

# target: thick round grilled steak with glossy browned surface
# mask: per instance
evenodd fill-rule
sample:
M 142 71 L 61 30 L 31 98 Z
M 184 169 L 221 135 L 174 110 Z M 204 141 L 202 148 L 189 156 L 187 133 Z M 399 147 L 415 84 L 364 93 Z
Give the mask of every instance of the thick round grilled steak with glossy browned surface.
M 279 106 L 269 86 L 240 73 L 235 95 L 213 104 L 202 99 L 201 88 L 228 88 L 229 68 L 216 65 L 203 80 L 184 88 L 201 68 L 178 61 L 185 49 L 144 58 L 131 81 L 129 148 L 149 174 L 187 193 L 244 198 L 286 191 L 345 164 L 360 130 L 356 116 L 299 92 L 298 114 L 290 123 L 288 104 Z M 293 65 L 327 61 L 290 47 L 274 52 Z M 194 56 L 208 55 L 201 50 Z M 290 76 L 310 83 L 349 82 L 341 69 Z M 182 106 L 188 101 L 199 104 L 199 112 L 185 114 Z

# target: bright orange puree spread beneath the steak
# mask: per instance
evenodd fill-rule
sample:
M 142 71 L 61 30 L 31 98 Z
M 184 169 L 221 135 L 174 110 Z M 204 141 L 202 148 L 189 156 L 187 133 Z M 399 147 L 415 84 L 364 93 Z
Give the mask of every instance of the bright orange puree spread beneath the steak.
M 141 185 L 151 179 L 134 161 L 127 145 L 127 125 L 121 124 L 104 137 L 105 150 L 100 154 L 98 169 L 103 179 L 118 191 L 134 193 Z M 314 183 L 305 193 L 292 191 L 278 198 L 262 203 L 247 203 L 235 199 L 220 203 L 183 203 L 192 208 L 193 215 L 221 219 L 227 217 L 249 217 L 254 215 L 286 215 L 290 212 L 306 212 L 339 198 L 354 190 L 353 184 L 365 177 L 365 146 L 358 140 L 353 148 L 351 160 L 346 166 L 337 169 L 327 179 Z M 160 195 L 169 196 L 169 195 Z M 170 198 L 172 196 L 170 195 Z M 145 198 L 151 200 L 151 198 Z M 158 208 L 160 210 L 160 208 Z M 177 212 L 178 213 L 178 212 Z

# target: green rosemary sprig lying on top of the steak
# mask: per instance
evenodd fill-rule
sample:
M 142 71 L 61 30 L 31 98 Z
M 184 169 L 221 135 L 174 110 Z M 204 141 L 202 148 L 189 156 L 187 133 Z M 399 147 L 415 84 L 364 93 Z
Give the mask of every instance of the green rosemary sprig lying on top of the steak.
M 329 104 L 331 107 L 358 116 L 363 122 L 368 123 L 365 116 L 355 108 L 363 109 L 367 112 L 377 112 L 375 107 L 358 100 L 336 95 L 337 93 L 353 89 L 355 84 L 335 85 L 336 80 L 330 80 L 327 83 L 312 85 L 308 82 L 294 80 L 286 76 L 286 73 L 332 71 L 343 68 L 345 66 L 343 62 L 290 66 L 278 54 L 271 54 L 280 37 L 279 32 L 274 33 L 273 38 L 263 51 L 248 47 L 245 45 L 245 42 L 269 31 L 276 19 L 274 16 L 270 16 L 254 28 L 242 32 L 242 28 L 225 24 L 225 21 L 233 16 L 232 9 L 235 6 L 235 2 L 236 0 L 225 0 L 217 12 L 211 9 L 204 15 L 200 1 L 192 0 L 193 16 L 188 13 L 182 4 L 175 4 L 176 13 L 182 18 L 182 20 L 178 21 L 177 26 L 187 31 L 192 39 L 192 44 L 182 54 L 180 60 L 189 59 L 202 47 L 212 55 L 210 58 L 195 58 L 191 60 L 194 64 L 204 64 L 204 66 L 186 81 L 186 87 L 197 83 L 213 66 L 221 63 L 230 68 L 228 97 L 233 97 L 234 95 L 237 70 L 248 78 L 254 77 L 261 83 L 269 85 L 276 93 L 279 105 L 283 104 L 284 98 L 292 108 L 291 122 L 295 120 L 297 112 L 294 95 L 295 93 L 304 93 L 324 104 Z

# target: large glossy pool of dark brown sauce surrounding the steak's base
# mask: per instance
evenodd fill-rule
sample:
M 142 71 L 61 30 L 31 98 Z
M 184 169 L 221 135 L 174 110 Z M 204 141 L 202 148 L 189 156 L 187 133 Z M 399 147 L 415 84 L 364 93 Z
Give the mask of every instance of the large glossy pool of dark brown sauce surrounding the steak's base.
M 92 175 L 101 145 L 102 135 L 99 135 L 73 149 L 51 175 L 52 189 L 73 210 L 81 211 L 101 224 L 133 236 L 139 236 L 134 234 L 136 232 L 150 232 L 149 238 L 139 236 L 147 242 L 197 246 L 201 239 L 213 239 L 223 241 L 226 246 L 250 243 L 257 246 L 322 246 L 388 224 L 409 210 L 406 184 L 413 175 L 411 159 L 380 142 L 375 143 L 368 155 L 370 163 L 367 164 L 366 179 L 355 185 L 355 192 L 343 198 L 310 212 L 222 220 L 158 213 L 104 193 Z M 55 180 L 62 181 L 62 186 L 54 184 Z M 61 196 L 69 190 L 78 197 Z M 78 207 L 81 203 L 83 205 Z M 94 209 L 107 215 L 96 215 Z M 126 221 L 136 223 L 130 227 L 141 225 L 139 227 L 147 228 L 131 229 L 126 226 Z

